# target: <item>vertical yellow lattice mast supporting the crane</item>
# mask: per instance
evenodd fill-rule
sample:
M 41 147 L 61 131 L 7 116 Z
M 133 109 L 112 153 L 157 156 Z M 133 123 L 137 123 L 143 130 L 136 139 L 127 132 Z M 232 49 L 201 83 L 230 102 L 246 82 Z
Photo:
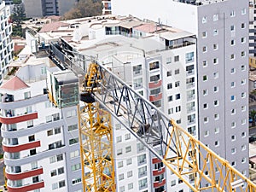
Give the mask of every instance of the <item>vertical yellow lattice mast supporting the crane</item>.
M 79 110 L 84 192 L 115 191 L 111 116 L 96 102 Z

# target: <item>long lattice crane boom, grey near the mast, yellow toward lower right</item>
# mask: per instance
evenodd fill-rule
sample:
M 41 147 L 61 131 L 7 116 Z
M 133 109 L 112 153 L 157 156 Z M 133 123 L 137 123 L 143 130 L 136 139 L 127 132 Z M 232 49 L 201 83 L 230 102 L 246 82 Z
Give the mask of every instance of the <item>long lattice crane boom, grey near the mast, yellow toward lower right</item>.
M 255 183 L 102 64 L 95 62 L 88 67 L 84 93 L 99 103 L 98 108 L 111 113 L 193 191 L 256 191 Z

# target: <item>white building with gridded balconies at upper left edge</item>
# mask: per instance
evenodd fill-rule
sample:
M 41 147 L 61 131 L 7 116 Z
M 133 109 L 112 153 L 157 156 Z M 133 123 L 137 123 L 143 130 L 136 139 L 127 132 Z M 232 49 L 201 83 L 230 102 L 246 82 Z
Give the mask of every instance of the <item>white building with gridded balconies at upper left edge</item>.
M 7 67 L 9 62 L 12 61 L 14 45 L 10 38 L 12 26 L 9 23 L 10 9 L 5 5 L 3 0 L 0 0 L 0 84 L 3 83 L 3 76 L 8 73 Z

